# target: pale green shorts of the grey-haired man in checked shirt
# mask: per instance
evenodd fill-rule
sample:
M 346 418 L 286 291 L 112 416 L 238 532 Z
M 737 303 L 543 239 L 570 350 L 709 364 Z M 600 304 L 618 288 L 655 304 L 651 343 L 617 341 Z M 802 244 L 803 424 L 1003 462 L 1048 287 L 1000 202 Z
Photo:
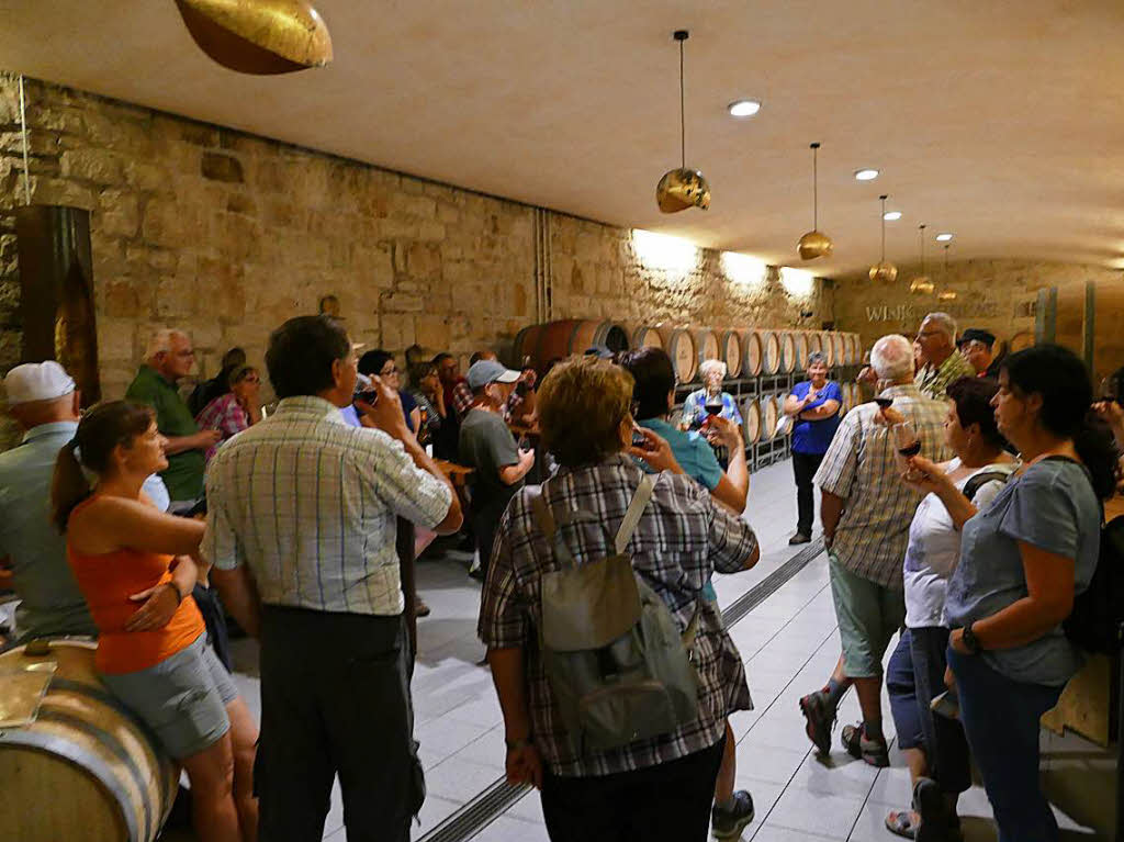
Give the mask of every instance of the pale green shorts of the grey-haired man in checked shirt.
M 905 591 L 852 573 L 828 553 L 827 570 L 847 678 L 882 674 L 882 655 L 906 618 Z

